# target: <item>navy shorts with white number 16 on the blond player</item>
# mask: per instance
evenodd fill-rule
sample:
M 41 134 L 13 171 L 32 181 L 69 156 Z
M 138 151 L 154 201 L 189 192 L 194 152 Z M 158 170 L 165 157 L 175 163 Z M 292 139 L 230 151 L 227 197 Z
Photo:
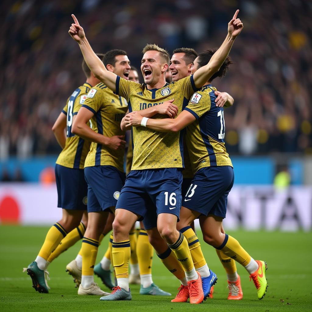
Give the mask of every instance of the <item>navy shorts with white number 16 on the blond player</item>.
M 160 213 L 179 220 L 182 173 L 179 168 L 131 170 L 121 190 L 116 209 L 129 210 L 143 219 L 146 230 L 157 226 Z

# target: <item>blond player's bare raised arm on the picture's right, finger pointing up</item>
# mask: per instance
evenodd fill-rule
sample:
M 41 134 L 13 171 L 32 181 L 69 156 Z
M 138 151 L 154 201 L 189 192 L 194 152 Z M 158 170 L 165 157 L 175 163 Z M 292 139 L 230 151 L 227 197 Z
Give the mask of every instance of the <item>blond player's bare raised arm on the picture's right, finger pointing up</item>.
M 237 17 L 239 10 L 236 10 L 232 20 L 228 23 L 227 37 L 223 41 L 220 48 L 213 54 L 209 63 L 199 68 L 193 75 L 194 83 L 197 88 L 201 88 L 210 77 L 216 73 L 225 59 L 227 58 L 235 38 L 240 34 L 243 29 L 243 23 Z

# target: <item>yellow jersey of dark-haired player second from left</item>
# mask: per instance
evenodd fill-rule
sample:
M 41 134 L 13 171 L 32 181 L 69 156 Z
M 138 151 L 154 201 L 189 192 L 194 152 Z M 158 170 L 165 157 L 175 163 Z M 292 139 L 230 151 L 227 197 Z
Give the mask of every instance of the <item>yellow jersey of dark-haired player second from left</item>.
M 128 110 L 127 101 L 113 93 L 103 83 L 90 89 L 82 107 L 90 110 L 92 129 L 107 137 L 124 135 L 120 129 L 121 119 Z M 92 142 L 85 159 L 85 167 L 114 166 L 124 172 L 124 149 L 113 150 L 105 145 Z

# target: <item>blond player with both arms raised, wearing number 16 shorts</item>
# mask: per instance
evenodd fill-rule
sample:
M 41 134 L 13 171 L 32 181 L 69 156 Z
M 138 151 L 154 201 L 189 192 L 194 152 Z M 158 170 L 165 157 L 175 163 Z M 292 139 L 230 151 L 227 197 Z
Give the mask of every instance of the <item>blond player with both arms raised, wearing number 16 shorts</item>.
M 161 106 L 161 103 L 169 98 L 175 98 L 178 110 L 182 110 L 183 103 L 188 103 L 193 92 L 219 70 L 227 57 L 242 29 L 241 21 L 236 18 L 237 14 L 238 10 L 229 22 L 225 41 L 211 61 L 194 75 L 170 85 L 165 82 L 169 55 L 158 46 L 147 45 L 143 50 L 141 70 L 145 85 L 139 85 L 106 70 L 92 51 L 75 16 L 75 24 L 70 27 L 69 34 L 79 43 L 85 61 L 90 69 L 95 71 L 95 75 L 116 94 L 129 101 L 129 110 L 151 108 L 153 111 L 154 105 Z M 188 243 L 183 234 L 176 229 L 181 208 L 181 138 L 178 132 L 159 134 L 145 128 L 133 129 L 132 171 L 120 193 L 113 223 L 113 261 L 118 286 L 111 295 L 102 297 L 101 300 L 131 300 L 128 282 L 129 231 L 140 217 L 144 217 L 144 226 L 150 229 L 149 235 L 153 236 L 152 232 L 157 226 L 160 235 L 181 262 L 188 280 L 190 302 L 200 303 L 204 298 L 201 278 L 195 271 Z M 150 209 L 153 206 L 156 206 L 156 210 Z

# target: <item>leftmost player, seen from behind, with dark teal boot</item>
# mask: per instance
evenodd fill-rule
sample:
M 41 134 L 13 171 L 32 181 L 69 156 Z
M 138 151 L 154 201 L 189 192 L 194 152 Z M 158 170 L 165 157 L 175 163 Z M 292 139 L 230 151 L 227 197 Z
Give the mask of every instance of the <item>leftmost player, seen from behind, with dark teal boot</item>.
M 103 54 L 97 55 L 100 58 L 104 56 Z M 90 88 L 100 80 L 91 73 L 85 61 L 82 62 L 82 70 L 87 78 L 86 82 L 68 98 L 67 104 L 52 127 L 57 142 L 62 148 L 55 166 L 57 207 L 62 208 L 62 218 L 50 228 L 37 258 L 27 267 L 27 274 L 32 278 L 32 287 L 40 293 L 49 292 L 44 278 L 44 270 L 53 260 L 49 258 L 52 251 L 75 227 L 77 227 L 75 232 L 69 233 L 71 236 L 75 236 L 74 240 L 77 239 L 77 233 L 83 235 L 82 233 L 85 232 L 85 225 L 80 223 L 80 220 L 86 210 L 87 184 L 83 167 L 90 143 L 73 134 L 71 130 L 74 111 L 79 110 Z M 66 126 L 67 131 L 65 132 Z

